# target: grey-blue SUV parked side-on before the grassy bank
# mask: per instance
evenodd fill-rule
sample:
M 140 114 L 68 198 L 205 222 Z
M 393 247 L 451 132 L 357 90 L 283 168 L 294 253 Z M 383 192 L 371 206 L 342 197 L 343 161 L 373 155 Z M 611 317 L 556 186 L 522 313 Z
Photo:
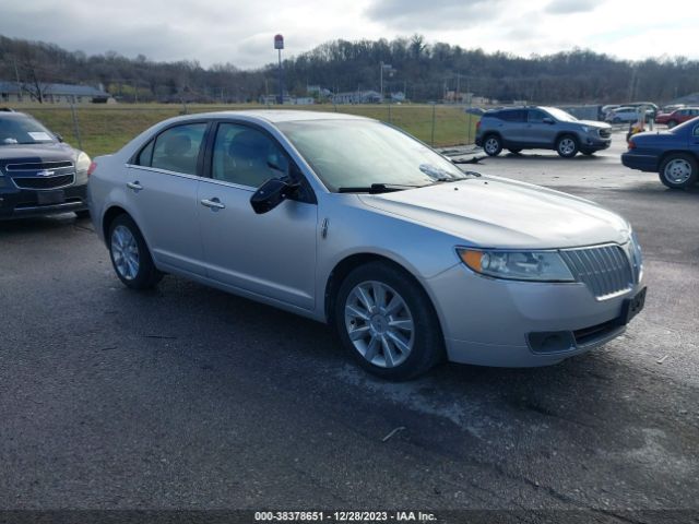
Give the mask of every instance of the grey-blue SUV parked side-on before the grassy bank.
M 592 155 L 612 143 L 612 127 L 593 120 L 578 120 L 556 107 L 513 107 L 486 111 L 476 127 L 476 145 L 489 156 L 502 148 L 554 150 L 564 158 L 578 152 Z

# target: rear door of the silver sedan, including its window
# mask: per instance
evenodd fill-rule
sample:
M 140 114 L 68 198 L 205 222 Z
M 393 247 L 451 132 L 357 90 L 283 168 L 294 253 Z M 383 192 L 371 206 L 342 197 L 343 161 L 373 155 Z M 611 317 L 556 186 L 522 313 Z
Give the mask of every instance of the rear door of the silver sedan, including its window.
M 197 191 L 208 129 L 206 121 L 167 128 L 127 169 L 129 209 L 163 269 L 204 274 Z

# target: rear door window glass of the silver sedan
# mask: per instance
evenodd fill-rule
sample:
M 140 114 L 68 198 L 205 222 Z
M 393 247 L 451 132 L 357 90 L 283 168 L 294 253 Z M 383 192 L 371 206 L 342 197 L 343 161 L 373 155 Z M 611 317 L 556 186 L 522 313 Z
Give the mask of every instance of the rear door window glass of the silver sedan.
M 138 164 L 183 175 L 197 175 L 206 123 L 187 123 L 162 132 L 139 154 Z

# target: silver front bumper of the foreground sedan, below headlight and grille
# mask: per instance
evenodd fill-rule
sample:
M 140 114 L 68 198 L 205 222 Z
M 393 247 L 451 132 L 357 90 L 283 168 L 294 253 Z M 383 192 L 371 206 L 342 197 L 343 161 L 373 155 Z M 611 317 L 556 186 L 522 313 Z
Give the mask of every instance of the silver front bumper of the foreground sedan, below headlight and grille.
M 626 330 L 625 300 L 643 286 L 641 282 L 620 296 L 597 300 L 582 283 L 488 278 L 462 264 L 425 284 L 449 360 L 495 367 L 548 366 L 609 342 Z M 565 334 L 570 344 L 543 349 L 543 334 Z

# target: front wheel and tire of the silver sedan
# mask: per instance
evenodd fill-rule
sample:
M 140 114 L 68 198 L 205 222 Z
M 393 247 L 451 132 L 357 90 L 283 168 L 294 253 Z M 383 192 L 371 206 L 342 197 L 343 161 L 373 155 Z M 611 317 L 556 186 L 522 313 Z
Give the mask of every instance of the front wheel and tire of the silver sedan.
M 337 335 L 368 372 L 410 380 L 443 358 L 445 341 L 431 301 L 402 269 L 387 262 L 360 265 L 334 298 Z

